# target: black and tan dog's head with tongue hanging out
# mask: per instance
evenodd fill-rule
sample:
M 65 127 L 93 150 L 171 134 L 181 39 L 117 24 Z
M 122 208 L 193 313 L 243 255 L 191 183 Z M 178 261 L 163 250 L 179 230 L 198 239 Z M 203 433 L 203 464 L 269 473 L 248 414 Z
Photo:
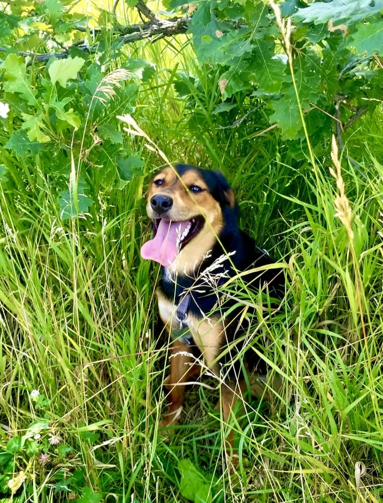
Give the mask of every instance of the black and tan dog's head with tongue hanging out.
M 236 225 L 238 205 L 223 175 L 186 164 L 165 167 L 151 180 L 146 211 L 154 237 L 141 256 L 173 272 L 201 263 L 228 224 Z

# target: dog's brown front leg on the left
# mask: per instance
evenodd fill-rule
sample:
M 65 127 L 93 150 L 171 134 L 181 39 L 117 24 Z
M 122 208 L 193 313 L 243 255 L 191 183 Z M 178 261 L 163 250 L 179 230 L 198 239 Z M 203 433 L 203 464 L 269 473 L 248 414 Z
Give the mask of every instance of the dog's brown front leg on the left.
M 164 415 L 162 428 L 177 425 L 182 413 L 185 398 L 185 385 L 192 375 L 199 371 L 190 347 L 182 341 L 174 341 L 171 347 L 170 374 L 165 385 L 169 390 L 168 411 Z

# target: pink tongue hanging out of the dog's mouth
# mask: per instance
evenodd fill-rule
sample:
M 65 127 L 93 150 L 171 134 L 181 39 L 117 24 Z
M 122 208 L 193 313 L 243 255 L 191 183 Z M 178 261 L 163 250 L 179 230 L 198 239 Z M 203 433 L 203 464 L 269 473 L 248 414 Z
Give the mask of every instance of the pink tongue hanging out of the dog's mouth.
M 189 220 L 172 222 L 162 218 L 155 237 L 141 246 L 141 257 L 155 260 L 164 267 L 169 266 L 177 256 L 177 243 L 188 225 Z

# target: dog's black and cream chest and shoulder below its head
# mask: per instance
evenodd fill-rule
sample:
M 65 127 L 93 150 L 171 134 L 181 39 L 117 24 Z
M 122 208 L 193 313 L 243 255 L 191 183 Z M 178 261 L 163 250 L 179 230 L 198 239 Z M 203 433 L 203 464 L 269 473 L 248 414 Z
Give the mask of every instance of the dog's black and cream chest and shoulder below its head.
M 229 350 L 234 340 L 234 352 L 237 354 L 243 343 L 241 334 L 247 329 L 244 323 L 241 307 L 236 307 L 236 301 L 226 298 L 222 291 L 222 284 L 228 278 L 234 277 L 238 271 L 259 268 L 271 263 L 265 250 L 258 248 L 253 239 L 242 231 L 235 236 L 224 238 L 220 236 L 223 246 L 230 256 L 218 243 L 211 250 L 208 258 L 202 261 L 194 271 L 194 275 L 178 274 L 175 276 L 167 268 L 161 268 L 161 280 L 157 289 L 160 316 L 173 340 L 192 339 L 191 352 L 195 356 L 203 356 L 204 363 L 216 371 L 216 364 L 224 365 L 232 360 Z M 259 291 L 267 283 L 270 295 L 278 297 L 280 280 L 275 278 L 275 271 L 265 270 L 254 274 L 247 274 L 244 278 L 251 289 Z M 277 275 L 278 276 L 278 275 Z M 280 274 L 279 274 L 280 277 Z M 183 319 L 184 332 L 180 331 L 180 320 L 177 311 L 189 293 L 189 305 Z M 230 314 L 226 315 L 226 312 Z M 185 339 L 184 339 L 185 340 Z M 199 354 L 195 349 L 199 350 Z M 223 356 L 220 356 L 220 355 Z M 258 365 L 257 362 L 251 366 Z

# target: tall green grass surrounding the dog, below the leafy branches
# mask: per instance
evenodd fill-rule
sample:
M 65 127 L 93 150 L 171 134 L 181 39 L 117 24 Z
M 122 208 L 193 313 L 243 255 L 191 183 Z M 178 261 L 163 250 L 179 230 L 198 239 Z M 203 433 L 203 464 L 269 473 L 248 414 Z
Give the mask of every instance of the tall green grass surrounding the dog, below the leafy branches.
M 186 39 L 161 44 L 117 62 L 156 65 L 134 105 L 153 143 L 124 136 L 143 163 L 118 190 L 105 189 L 93 165 L 94 206 L 78 217 L 62 219 L 49 151 L 2 147 L 11 175 L 0 195 L 0 501 L 380 501 L 383 111 L 350 128 L 343 151 L 329 131 L 321 158 L 310 158 L 308 137 L 296 160 L 277 130 L 255 137 L 262 113 L 237 124 L 214 113 L 214 74 Z M 109 98 L 97 105 L 105 123 L 122 107 Z M 84 145 L 69 149 L 72 191 L 101 112 L 91 113 Z M 216 378 L 189 390 L 168 441 L 159 431 L 169 341 L 157 319 L 158 268 L 139 255 L 150 233 L 145 186 L 164 163 L 156 149 L 223 171 L 241 225 L 285 265 L 280 310 L 258 311 L 249 334 L 269 383 L 281 385 L 269 401 L 244 397 L 235 469 Z

